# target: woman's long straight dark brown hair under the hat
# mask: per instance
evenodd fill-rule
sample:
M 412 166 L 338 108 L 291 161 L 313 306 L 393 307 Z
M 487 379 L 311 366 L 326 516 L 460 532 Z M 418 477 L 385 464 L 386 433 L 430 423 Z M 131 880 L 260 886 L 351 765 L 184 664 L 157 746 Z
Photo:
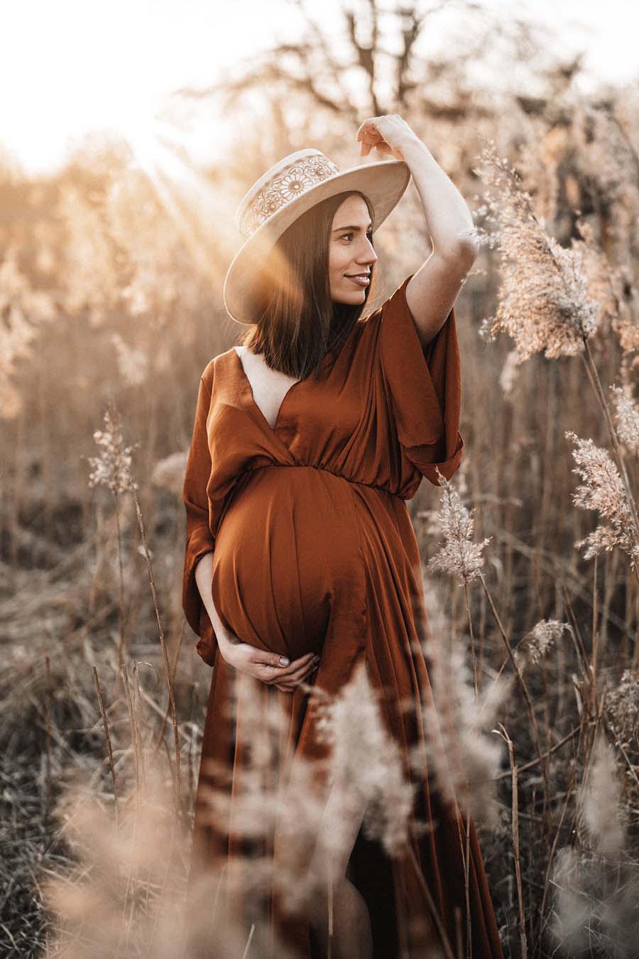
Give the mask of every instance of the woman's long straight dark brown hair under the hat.
M 359 191 L 324 199 L 291 223 L 258 269 L 254 300 L 258 320 L 240 334 L 239 342 L 252 353 L 261 353 L 272 369 L 298 380 L 312 372 L 317 378 L 327 353 L 339 353 L 375 287 L 372 264 L 362 303 L 336 303 L 331 298 L 332 221 L 340 204 L 354 193 L 364 199 L 374 220 L 369 199 Z

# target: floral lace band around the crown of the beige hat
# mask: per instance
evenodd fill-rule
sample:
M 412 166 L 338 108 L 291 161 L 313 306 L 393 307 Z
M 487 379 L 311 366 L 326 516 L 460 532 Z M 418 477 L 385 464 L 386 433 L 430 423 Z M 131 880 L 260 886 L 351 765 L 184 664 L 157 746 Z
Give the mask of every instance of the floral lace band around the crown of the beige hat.
M 240 211 L 241 235 L 248 239 L 263 222 L 287 203 L 306 193 L 310 187 L 338 173 L 335 164 L 320 152 L 308 154 L 287 164 L 274 174 L 252 199 L 247 199 L 246 208 Z

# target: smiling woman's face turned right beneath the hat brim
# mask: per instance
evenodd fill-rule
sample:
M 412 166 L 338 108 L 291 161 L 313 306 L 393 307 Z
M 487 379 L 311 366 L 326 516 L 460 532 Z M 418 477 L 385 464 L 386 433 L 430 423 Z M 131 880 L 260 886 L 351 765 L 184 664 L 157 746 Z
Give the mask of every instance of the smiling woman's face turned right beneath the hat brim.
M 337 208 L 331 226 L 329 280 L 331 299 L 335 302 L 354 306 L 364 302 L 371 268 L 377 260 L 372 235 L 364 199 L 356 194 L 347 197 Z M 355 274 L 360 274 L 361 279 L 351 279 Z

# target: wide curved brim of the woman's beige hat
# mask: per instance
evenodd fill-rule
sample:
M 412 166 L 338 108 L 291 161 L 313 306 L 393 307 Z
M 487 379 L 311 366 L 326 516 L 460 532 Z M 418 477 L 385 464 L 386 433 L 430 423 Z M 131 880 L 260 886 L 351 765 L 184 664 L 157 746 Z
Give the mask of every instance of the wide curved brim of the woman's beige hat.
M 351 167 L 310 187 L 276 213 L 250 236 L 234 256 L 224 278 L 224 307 L 237 323 L 255 323 L 251 316 L 253 277 L 265 255 L 310 207 L 347 190 L 358 190 L 370 200 L 374 210 L 373 230 L 384 222 L 399 203 L 408 184 L 410 169 L 403 160 L 378 160 Z

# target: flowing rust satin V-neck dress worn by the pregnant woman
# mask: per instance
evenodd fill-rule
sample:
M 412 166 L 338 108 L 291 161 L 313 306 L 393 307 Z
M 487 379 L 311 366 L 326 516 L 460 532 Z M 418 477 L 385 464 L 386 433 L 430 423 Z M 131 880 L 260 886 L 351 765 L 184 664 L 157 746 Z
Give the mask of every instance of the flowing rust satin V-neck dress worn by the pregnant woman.
M 184 481 L 183 607 L 199 636 L 196 649 L 213 667 L 213 676 L 192 877 L 195 863 L 200 868 L 216 857 L 242 854 L 245 841 L 231 828 L 224 833 L 204 823 L 199 806 L 205 784 L 220 787 L 203 760 L 227 768 L 229 790 L 240 788 L 235 779 L 244 761 L 242 701 L 234 697 L 236 686 L 245 687 L 236 683 L 237 671 L 218 652 L 194 579 L 195 565 L 206 552 L 213 551 L 217 614 L 243 642 L 291 661 L 310 649 L 318 652 L 320 665 L 310 682 L 331 693 L 365 662 L 370 681 L 382 693 L 387 729 L 406 756 L 405 775 L 415 782 L 407 756 L 424 737 L 422 718 L 419 711 L 406 713 L 399 699 L 412 697 L 419 704 L 428 698 L 420 619 L 426 630 L 428 625 L 418 543 L 405 501 L 423 477 L 438 485 L 435 464 L 446 479 L 452 476 L 464 440 L 458 431 L 461 368 L 454 311 L 424 349 L 406 303 L 411 276 L 354 325 L 336 357 L 327 355 L 317 382 L 308 377 L 289 388 L 274 429 L 253 399 L 234 348 L 215 357 L 202 374 Z M 285 752 L 322 755 L 308 692 L 284 692 L 244 678 L 252 684 L 246 713 L 254 715 L 256 704 L 279 697 L 288 720 Z M 438 954 L 429 949 L 438 939 L 424 880 L 453 951 L 455 907 L 466 943 L 459 822 L 446 813 L 425 767 L 416 795 L 415 815 L 434 828 L 411 833 L 412 864 L 400 860 L 392 871 L 381 845 L 363 830 L 351 856 L 349 877 L 369 906 L 376 959 L 400 954 L 398 896 L 414 927 L 403 956 Z M 465 826 L 461 830 L 465 848 Z M 415 875 L 415 862 L 422 877 Z M 471 955 L 503 959 L 472 819 L 468 871 Z M 283 918 L 276 899 L 271 918 L 285 944 L 295 956 L 316 959 L 308 923 Z

